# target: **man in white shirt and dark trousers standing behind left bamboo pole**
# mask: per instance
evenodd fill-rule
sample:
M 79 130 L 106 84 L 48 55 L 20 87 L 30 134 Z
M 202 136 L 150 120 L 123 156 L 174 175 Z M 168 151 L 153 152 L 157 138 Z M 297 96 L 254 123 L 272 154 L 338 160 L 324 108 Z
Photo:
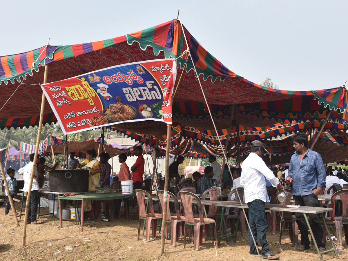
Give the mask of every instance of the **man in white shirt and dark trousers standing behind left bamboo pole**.
M 34 179 L 33 184 L 31 186 L 31 191 L 29 191 L 29 184 L 30 184 L 30 176 L 31 171 L 33 169 L 33 160 L 34 160 L 35 154 L 30 154 L 30 162 L 24 166 L 23 169 L 23 179 L 24 179 L 24 187 L 23 191 L 30 193 L 30 202 L 29 202 L 29 210 L 28 210 L 28 218 L 27 218 L 27 224 L 40 224 L 42 222 L 36 220 L 36 213 L 38 210 L 38 192 L 40 190 L 39 188 L 39 182 L 38 182 L 38 168 L 36 164 L 39 164 L 40 160 L 39 157 L 37 157 L 36 164 L 35 164 L 35 172 L 34 172 Z

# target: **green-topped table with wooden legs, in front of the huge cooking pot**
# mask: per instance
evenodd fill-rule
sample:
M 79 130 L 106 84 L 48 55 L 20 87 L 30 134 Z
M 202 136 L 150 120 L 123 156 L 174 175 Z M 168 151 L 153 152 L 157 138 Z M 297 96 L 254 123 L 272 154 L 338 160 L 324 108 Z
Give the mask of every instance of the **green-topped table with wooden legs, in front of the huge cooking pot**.
M 117 191 L 115 193 L 89 193 L 89 194 L 81 194 L 81 195 L 75 195 L 75 196 L 68 196 L 68 197 L 63 197 L 59 196 L 58 197 L 58 204 L 59 204 L 59 222 L 60 222 L 60 227 L 63 227 L 63 220 L 62 220 L 62 199 L 67 199 L 67 200 L 81 200 L 81 232 L 84 231 L 84 207 L 85 207 L 85 201 L 87 200 L 113 200 L 113 199 L 122 199 L 122 198 L 131 198 L 135 197 L 135 193 L 131 194 L 122 194 L 121 191 Z M 125 200 L 125 204 L 126 200 Z M 128 207 L 125 206 L 126 209 L 126 215 L 128 218 Z M 113 211 L 113 209 L 111 209 Z

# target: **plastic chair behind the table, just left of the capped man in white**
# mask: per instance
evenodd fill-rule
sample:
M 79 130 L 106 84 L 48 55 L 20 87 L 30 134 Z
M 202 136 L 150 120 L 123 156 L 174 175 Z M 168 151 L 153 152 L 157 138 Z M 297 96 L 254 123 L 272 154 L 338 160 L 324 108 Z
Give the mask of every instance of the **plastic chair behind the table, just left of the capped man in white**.
M 232 195 L 235 194 L 235 200 L 239 202 L 238 196 L 236 195 L 236 192 L 239 194 L 240 199 L 243 200 L 244 197 L 244 188 L 236 188 L 234 190 L 231 190 L 231 192 L 228 194 L 227 196 L 227 201 L 231 201 Z M 238 203 L 239 204 L 239 203 Z M 227 224 L 228 220 L 230 220 L 230 227 L 231 227 L 231 233 L 232 235 L 235 234 L 235 221 L 238 218 L 238 212 L 239 209 L 235 207 L 234 209 L 234 213 L 232 215 L 229 214 L 230 212 L 230 208 L 227 207 L 226 208 L 226 212 L 223 215 L 225 224 Z M 242 226 L 242 223 L 244 222 L 245 224 L 245 216 L 243 212 L 240 212 L 240 216 L 239 216 L 239 223 L 240 226 L 238 227 L 238 229 L 240 230 L 240 233 L 242 234 L 242 240 L 244 240 L 244 228 Z

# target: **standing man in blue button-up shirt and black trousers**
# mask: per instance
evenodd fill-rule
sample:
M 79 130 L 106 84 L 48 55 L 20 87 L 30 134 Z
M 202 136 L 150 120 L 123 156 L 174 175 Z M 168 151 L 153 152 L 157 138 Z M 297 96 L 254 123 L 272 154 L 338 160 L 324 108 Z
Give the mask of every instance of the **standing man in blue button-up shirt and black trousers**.
M 325 186 L 325 168 L 319 153 L 308 148 L 308 135 L 300 132 L 293 137 L 295 154 L 291 157 L 289 174 L 285 182 L 292 184 L 295 205 L 319 207 L 318 194 Z M 301 231 L 301 245 L 297 250 L 309 249 L 308 227 L 302 213 L 295 213 L 296 222 Z M 311 228 L 319 251 L 325 251 L 323 227 L 319 215 L 308 214 Z

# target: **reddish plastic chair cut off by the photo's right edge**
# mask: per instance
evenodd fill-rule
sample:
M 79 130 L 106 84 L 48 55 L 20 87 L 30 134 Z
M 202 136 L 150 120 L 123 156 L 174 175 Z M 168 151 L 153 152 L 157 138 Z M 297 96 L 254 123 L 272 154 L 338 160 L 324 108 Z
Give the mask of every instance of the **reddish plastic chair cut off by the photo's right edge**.
M 336 197 L 340 196 L 342 201 L 342 216 L 335 216 L 335 201 Z M 348 245 L 348 189 L 341 189 L 337 192 L 335 192 L 331 197 L 332 202 L 332 212 L 331 215 L 328 217 L 325 217 L 326 223 L 334 224 L 336 227 L 336 236 L 337 236 L 337 247 L 339 250 L 342 250 L 342 225 L 345 230 L 345 236 L 346 236 L 346 245 Z M 324 244 L 325 244 L 325 235 L 326 235 L 326 229 L 323 225 L 323 231 L 324 231 Z M 330 235 L 329 235 L 330 237 Z

